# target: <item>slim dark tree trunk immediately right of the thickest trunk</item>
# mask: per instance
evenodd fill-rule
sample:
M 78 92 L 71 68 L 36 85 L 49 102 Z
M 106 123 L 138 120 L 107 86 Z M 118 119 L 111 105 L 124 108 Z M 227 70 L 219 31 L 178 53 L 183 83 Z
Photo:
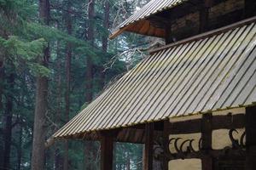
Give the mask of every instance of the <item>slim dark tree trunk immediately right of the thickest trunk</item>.
M 71 20 L 71 3 L 70 0 L 67 1 L 67 16 L 66 18 L 66 26 L 67 26 L 67 33 L 68 35 L 72 34 L 72 20 Z M 72 47 L 71 43 L 67 42 L 67 47 L 66 47 L 66 93 L 65 93 L 65 119 L 66 122 L 69 120 L 69 110 L 70 110 L 70 72 L 71 72 L 71 59 L 72 59 Z M 65 140 L 64 144 L 64 165 L 63 169 L 67 170 L 68 169 L 68 142 Z

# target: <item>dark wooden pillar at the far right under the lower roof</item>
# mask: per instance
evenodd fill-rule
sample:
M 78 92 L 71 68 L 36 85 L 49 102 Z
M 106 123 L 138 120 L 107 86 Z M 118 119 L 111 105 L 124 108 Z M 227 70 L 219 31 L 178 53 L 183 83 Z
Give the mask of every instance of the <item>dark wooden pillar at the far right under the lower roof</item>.
M 256 106 L 246 109 L 246 170 L 256 169 Z

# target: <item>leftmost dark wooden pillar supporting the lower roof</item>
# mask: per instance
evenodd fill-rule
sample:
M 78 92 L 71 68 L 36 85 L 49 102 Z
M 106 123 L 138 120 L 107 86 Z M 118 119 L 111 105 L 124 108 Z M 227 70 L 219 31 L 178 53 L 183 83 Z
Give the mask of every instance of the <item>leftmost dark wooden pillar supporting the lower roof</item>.
M 101 138 L 101 170 L 113 170 L 113 142 L 117 132 L 100 133 Z

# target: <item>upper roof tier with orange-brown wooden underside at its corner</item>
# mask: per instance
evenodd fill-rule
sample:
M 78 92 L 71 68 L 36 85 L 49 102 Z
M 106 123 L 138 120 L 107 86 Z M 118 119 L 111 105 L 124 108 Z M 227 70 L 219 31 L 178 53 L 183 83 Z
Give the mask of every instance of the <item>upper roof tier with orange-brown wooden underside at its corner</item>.
M 117 37 L 124 31 L 136 32 L 152 37 L 165 37 L 165 30 L 160 27 L 153 26 L 148 18 L 154 14 L 158 14 L 166 9 L 176 7 L 177 5 L 188 0 L 151 0 L 143 8 L 132 14 L 127 20 L 121 23 L 113 30 L 110 38 Z

